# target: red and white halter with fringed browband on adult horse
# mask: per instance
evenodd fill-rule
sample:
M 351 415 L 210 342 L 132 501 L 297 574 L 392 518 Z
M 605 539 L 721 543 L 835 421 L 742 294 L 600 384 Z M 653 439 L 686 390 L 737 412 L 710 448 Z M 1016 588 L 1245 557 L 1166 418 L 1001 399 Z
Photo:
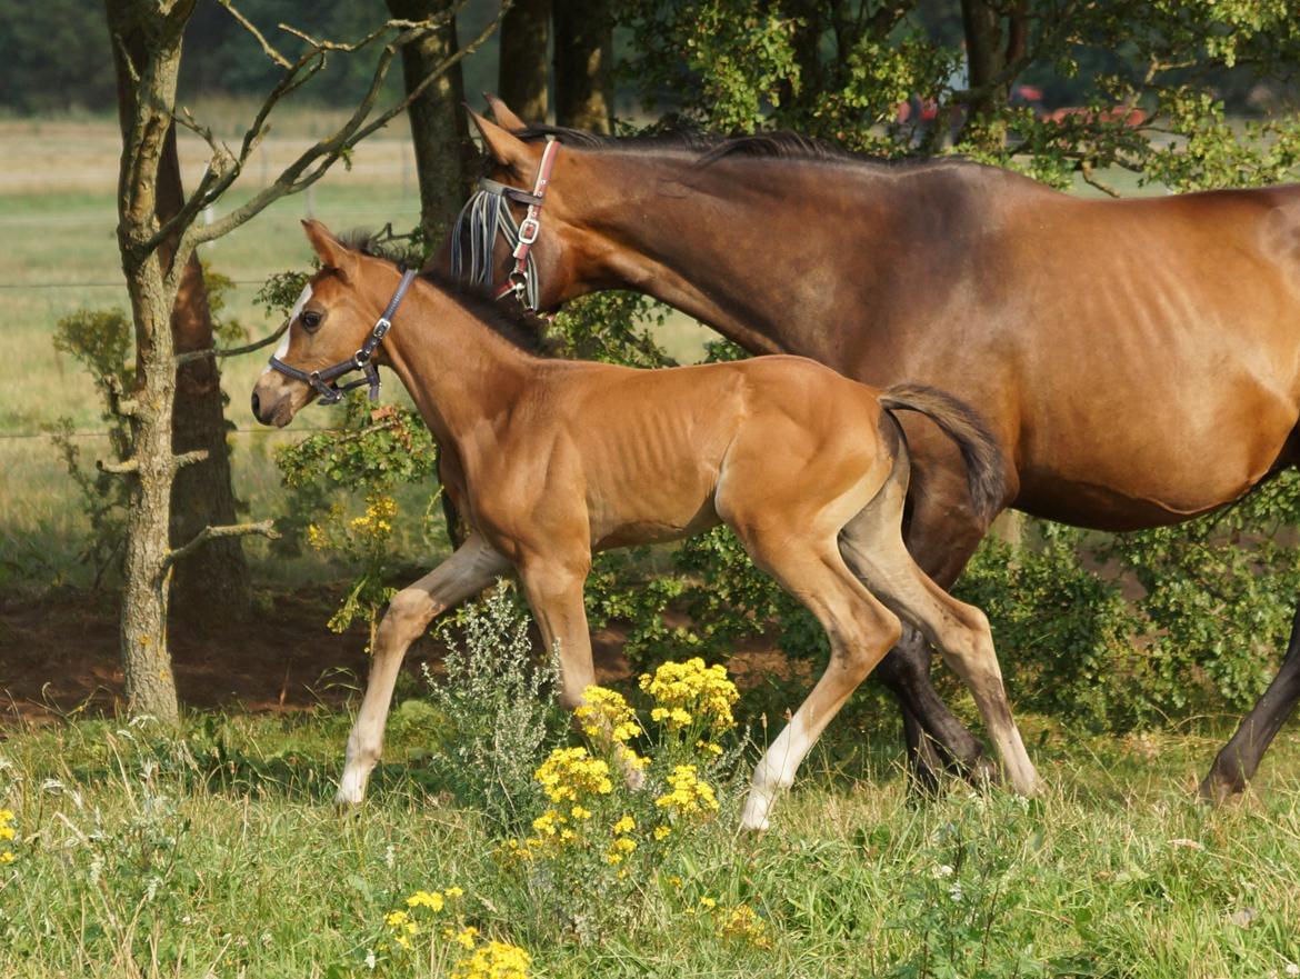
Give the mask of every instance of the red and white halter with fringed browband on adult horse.
M 537 312 L 537 261 L 532 251 L 533 243 L 542 230 L 542 202 L 546 198 L 546 187 L 551 182 L 551 170 L 555 168 L 555 156 L 559 151 L 560 144 L 549 139 L 542 151 L 542 161 L 537 168 L 537 179 L 533 182 L 532 194 L 488 178 L 478 181 L 480 190 L 460 209 L 451 231 L 452 278 L 465 276 L 462 250 L 465 247 L 465 237 L 468 235 L 468 281 L 493 286 L 493 248 L 497 244 L 497 235 L 503 235 L 515 259 L 515 268 L 506 276 L 506 281 L 495 289 L 494 295 L 497 299 L 503 299 L 507 295 L 517 296 L 525 308 Z M 507 200 L 528 205 L 528 213 L 517 225 Z

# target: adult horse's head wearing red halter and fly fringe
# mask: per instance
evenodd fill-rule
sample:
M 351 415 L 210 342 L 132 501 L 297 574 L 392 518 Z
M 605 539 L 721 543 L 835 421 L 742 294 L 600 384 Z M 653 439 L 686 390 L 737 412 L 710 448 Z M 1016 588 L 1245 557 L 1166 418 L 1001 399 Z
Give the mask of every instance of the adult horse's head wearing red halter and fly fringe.
M 575 246 L 581 231 L 572 225 L 566 202 L 566 187 L 572 187 L 575 161 L 566 159 L 559 147 L 551 151 L 550 179 L 543 185 L 538 207 L 529 208 L 529 199 L 538 190 L 538 177 L 547 169 L 546 142 L 520 139 L 515 133 L 525 124 L 493 98 L 493 109 L 503 125 L 497 125 L 471 111 L 469 117 L 482 137 L 488 169 L 480 191 L 462 212 L 460 221 L 439 255 L 443 268 L 451 267 L 451 252 L 459 251 L 459 277 L 497 291 L 520 283 L 520 299 L 536 312 L 554 311 L 573 291 Z M 500 212 L 504 208 L 510 220 Z M 532 212 L 532 213 L 530 213 Z M 529 217 L 536 226 L 529 226 Z M 514 225 L 514 228 L 511 228 Z M 528 247 L 525 274 L 516 268 L 512 254 L 519 237 L 536 239 Z

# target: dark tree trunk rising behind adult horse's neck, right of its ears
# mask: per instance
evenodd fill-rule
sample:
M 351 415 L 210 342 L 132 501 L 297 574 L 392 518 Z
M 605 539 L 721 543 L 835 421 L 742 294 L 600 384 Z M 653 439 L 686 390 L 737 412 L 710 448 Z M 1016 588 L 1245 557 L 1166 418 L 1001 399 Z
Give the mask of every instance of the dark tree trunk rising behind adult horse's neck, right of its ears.
M 555 3 L 555 121 L 612 131 L 614 17 L 610 0 Z

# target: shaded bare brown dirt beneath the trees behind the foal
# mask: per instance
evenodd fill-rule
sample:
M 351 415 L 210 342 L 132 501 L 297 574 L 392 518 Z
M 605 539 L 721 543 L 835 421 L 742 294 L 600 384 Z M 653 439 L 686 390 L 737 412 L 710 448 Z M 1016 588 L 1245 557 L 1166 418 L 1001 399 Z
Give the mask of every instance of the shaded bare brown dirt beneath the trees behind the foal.
M 365 634 L 325 628 L 329 599 L 320 592 L 280 595 L 239 625 L 173 621 L 170 641 L 183 707 L 281 712 L 320 705 L 342 707 L 364 688 Z M 632 673 L 623 633 L 593 633 L 597 677 L 618 683 Z M 404 668 L 437 663 L 443 649 L 421 640 Z M 801 664 L 802 666 L 802 664 Z M 728 663 L 741 686 L 789 664 L 771 644 L 757 641 Z M 0 727 L 125 710 L 113 595 L 55 593 L 40 602 L 0 598 Z

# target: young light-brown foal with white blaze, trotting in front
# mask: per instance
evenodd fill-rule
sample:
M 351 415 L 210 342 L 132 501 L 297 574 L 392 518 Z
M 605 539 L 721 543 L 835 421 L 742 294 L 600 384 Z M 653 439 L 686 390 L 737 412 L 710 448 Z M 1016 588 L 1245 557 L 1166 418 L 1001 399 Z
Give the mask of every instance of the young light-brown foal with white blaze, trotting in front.
M 443 486 L 473 528 L 384 616 L 341 801 L 361 800 L 398 667 L 436 615 L 514 567 L 547 647 L 559 649 L 560 699 L 575 707 L 595 681 L 582 606 L 593 550 L 718 523 L 809 607 L 832 650 L 754 771 L 746 828 L 766 828 L 776 793 L 897 641 L 896 616 L 944 653 L 1011 783 L 1034 790 L 987 619 L 926 577 L 902 540 L 907 450 L 892 410 L 923 412 L 948 433 L 970 464 L 976 508 L 1004 494 L 996 443 L 967 408 L 924 387 L 876 391 L 792 356 L 673 371 L 541 359 L 508 341 L 491 300 L 402 273 L 304 224 L 322 268 L 254 389 L 254 413 L 286 425 L 317 395 L 338 400 L 337 380 L 354 371 L 365 372 L 354 384 L 377 391 L 374 365 L 386 363 L 438 438 Z

